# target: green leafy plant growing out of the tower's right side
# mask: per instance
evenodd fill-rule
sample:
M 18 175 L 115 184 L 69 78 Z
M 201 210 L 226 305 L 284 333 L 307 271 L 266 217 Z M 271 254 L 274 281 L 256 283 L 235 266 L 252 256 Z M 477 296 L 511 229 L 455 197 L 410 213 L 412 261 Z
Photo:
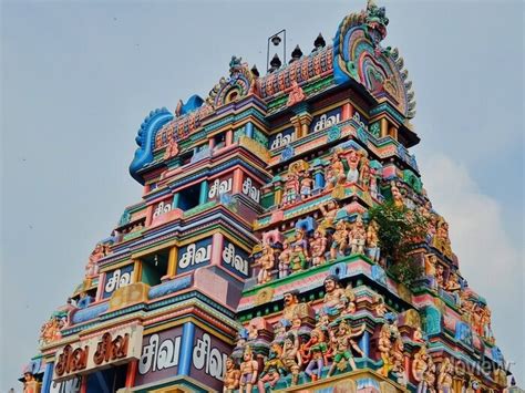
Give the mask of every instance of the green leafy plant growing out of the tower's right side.
M 410 287 L 422 277 L 423 267 L 410 252 L 424 241 L 428 220 L 416 210 L 398 207 L 389 200 L 369 210 L 370 220 L 378 224 L 379 247 L 387 261 L 387 270 Z

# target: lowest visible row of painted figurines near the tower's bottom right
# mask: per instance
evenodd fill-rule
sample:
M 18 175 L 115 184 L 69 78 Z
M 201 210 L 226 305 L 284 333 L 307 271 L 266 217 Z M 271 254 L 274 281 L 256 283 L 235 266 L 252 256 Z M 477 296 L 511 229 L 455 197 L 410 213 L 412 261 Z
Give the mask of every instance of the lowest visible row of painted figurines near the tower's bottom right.
M 405 356 L 409 354 L 395 317 L 389 314 L 384 320 L 375 340 L 377 358 L 381 360 L 378 372 L 387 378 L 393 376 L 402 385 L 408 384 L 411 372 L 412 381 L 419 389 L 452 392 L 453 370 L 450 360 L 443 361 L 437 369 L 432 356 L 426 353 L 426 343 L 421 335 L 418 341 L 420 349 L 411 355 L 411 370 L 406 370 Z M 255 386 L 258 392 L 266 392 L 267 389 L 275 389 L 279 382 L 297 385 L 330 378 L 336 372 L 356 370 L 354 358 L 368 358 L 362 345 L 358 344 L 364 332 L 364 323 L 352 327 L 348 317 L 333 321 L 321 318 L 311 331 L 291 327 L 282 337 L 276 337 L 269 345 L 268 355 L 259 353 L 257 342 L 238 343 L 227 360 L 224 392 L 238 390 L 249 393 Z

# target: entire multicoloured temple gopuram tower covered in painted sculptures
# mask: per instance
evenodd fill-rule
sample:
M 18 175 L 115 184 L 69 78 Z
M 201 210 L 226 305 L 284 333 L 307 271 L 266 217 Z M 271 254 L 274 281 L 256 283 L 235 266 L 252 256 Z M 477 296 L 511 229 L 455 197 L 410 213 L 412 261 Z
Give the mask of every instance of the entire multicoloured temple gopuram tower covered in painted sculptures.
M 410 148 L 414 93 L 369 1 L 261 76 L 152 111 L 143 186 L 42 325 L 25 393 L 504 392 L 486 300 Z

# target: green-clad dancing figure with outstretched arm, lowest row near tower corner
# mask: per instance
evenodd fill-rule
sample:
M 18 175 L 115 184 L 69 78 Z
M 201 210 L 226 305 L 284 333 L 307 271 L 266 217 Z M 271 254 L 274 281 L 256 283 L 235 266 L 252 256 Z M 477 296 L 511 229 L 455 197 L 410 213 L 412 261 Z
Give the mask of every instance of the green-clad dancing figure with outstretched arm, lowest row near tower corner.
M 366 327 L 366 323 L 363 323 L 357 332 L 352 332 L 352 329 L 348 324 L 347 320 L 339 322 L 337 332 L 331 340 L 333 345 L 333 363 L 328 371 L 327 376 L 332 375 L 336 369 L 344 371 L 348 364 L 350 364 L 350 370 L 357 369 L 356 362 L 353 360 L 352 349 L 359 353 L 360 358 L 364 356 L 364 353 L 352 339 L 360 337 L 364 332 Z

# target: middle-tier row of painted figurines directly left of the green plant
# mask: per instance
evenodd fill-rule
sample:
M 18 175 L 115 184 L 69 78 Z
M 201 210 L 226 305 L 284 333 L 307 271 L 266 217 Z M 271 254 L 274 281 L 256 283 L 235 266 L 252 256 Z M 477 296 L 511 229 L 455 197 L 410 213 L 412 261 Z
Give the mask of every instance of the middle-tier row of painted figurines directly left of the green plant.
M 328 204 L 328 209 L 333 210 Z M 327 210 L 321 206 L 321 211 Z M 334 260 L 346 255 L 367 255 L 372 261 L 379 262 L 380 248 L 378 238 L 378 225 L 374 221 L 364 225 L 361 216 L 357 216 L 353 223 L 340 219 L 333 225 L 333 219 L 326 218 L 320 226 L 310 231 L 296 228 L 292 240 L 272 231 L 271 238 L 264 236 L 266 241 L 259 245 L 254 251 L 255 266 L 260 270 L 257 275 L 257 283 L 269 282 L 272 279 L 271 272 L 278 268 L 278 278 L 284 278 L 290 273 L 306 270 L 310 266 L 316 267 Z M 279 239 L 280 238 L 280 239 Z

